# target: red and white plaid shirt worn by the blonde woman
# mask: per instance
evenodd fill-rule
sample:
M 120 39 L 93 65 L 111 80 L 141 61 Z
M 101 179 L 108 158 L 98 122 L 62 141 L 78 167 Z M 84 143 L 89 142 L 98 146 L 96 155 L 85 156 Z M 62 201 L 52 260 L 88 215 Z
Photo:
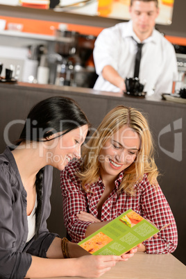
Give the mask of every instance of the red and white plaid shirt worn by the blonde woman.
M 81 186 L 81 180 L 76 176 L 79 169 L 80 162 L 77 160 L 71 161 L 60 174 L 65 227 L 72 242 L 83 240 L 87 226 L 92 223 L 78 220 L 76 214 L 85 211 L 97 217 L 96 205 L 105 189 L 103 181 L 99 178 L 99 181 L 91 185 L 91 192 L 85 192 Z M 135 196 L 129 196 L 125 192 L 118 194 L 117 190 L 123 176 L 124 171 L 115 180 L 115 189 L 103 203 L 101 221 L 115 219 L 131 208 L 145 219 L 155 223 L 159 229 L 167 223 L 172 223 L 171 226 L 158 233 L 157 239 L 152 237 L 151 240 L 144 242 L 144 245 L 146 246 L 146 253 L 174 252 L 178 244 L 176 222 L 160 186 L 158 185 L 158 190 L 151 186 L 146 174 L 144 174 L 143 180 L 135 185 Z

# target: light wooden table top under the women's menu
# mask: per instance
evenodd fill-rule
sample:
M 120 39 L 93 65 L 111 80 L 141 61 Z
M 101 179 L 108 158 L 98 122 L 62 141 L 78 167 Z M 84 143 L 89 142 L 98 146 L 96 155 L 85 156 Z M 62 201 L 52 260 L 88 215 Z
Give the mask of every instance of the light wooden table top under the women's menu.
M 82 279 L 82 277 L 73 278 Z M 138 252 L 127 262 L 118 262 L 100 278 L 185 279 L 186 267 L 171 254 L 150 255 Z M 58 279 L 69 279 L 69 277 L 58 277 Z

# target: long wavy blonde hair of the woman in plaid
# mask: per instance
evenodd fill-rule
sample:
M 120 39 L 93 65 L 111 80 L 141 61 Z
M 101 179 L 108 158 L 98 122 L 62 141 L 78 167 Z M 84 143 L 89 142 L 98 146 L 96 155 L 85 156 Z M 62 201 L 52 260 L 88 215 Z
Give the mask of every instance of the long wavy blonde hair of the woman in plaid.
M 158 169 L 153 159 L 153 140 L 148 122 L 135 108 L 119 105 L 105 115 L 90 140 L 83 146 L 83 165 L 78 177 L 84 189 L 99 180 L 99 153 L 105 142 L 123 126 L 135 130 L 140 136 L 141 143 L 137 158 L 124 170 L 119 191 L 135 194 L 134 186 L 140 183 L 144 174 L 147 174 L 151 185 L 157 185 Z

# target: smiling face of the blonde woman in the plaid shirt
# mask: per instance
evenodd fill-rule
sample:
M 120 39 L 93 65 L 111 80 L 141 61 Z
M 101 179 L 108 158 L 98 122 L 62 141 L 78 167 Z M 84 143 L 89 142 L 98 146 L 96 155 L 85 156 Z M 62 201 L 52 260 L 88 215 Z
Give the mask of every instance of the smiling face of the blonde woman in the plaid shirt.
M 99 153 L 102 180 L 116 179 L 121 171 L 132 164 L 140 149 L 140 136 L 132 128 L 124 126 L 105 142 Z

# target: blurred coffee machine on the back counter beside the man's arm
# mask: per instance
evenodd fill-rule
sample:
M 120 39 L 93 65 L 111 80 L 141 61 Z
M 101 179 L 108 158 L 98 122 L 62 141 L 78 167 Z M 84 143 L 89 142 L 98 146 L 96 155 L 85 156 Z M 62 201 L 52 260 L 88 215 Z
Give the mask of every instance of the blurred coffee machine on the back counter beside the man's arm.
M 56 65 L 56 85 L 93 87 L 95 73 L 92 52 L 96 37 L 75 31 L 56 30 L 55 51 L 60 55 Z M 88 65 L 92 60 L 91 65 Z

